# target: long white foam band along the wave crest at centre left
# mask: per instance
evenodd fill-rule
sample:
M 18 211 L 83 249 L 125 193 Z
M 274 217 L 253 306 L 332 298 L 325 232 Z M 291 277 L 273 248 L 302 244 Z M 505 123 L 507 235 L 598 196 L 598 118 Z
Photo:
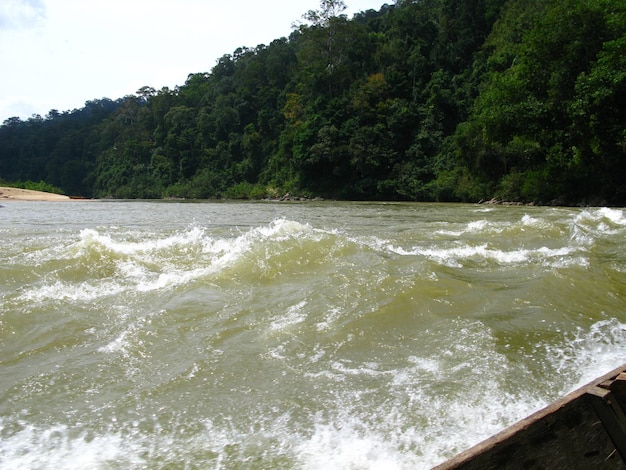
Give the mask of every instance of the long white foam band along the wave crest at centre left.
M 54 283 L 40 287 L 31 296 L 94 300 L 99 296 L 116 295 L 133 288 L 139 292 L 175 288 L 232 266 L 255 247 L 264 245 L 268 239 L 283 241 L 314 233 L 307 225 L 285 219 L 253 228 L 235 238 L 213 238 L 207 236 L 203 229 L 191 227 L 165 238 L 126 241 L 116 240 L 109 233 L 84 229 L 80 233 L 80 242 L 70 249 L 72 256 L 81 257 L 93 250 L 109 252 L 114 255 L 111 261 L 115 267 L 115 276 L 109 280 L 100 280 L 98 287 L 85 285 L 77 288 L 71 284 Z M 191 260 L 194 259 L 195 263 L 192 264 Z M 77 292 L 74 295 L 72 291 Z

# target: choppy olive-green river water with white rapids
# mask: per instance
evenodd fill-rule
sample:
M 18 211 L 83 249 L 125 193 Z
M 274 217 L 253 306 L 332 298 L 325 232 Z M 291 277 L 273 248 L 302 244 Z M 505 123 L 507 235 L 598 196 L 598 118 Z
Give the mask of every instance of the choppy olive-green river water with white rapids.
M 2 469 L 427 469 L 626 362 L 623 209 L 3 204 Z

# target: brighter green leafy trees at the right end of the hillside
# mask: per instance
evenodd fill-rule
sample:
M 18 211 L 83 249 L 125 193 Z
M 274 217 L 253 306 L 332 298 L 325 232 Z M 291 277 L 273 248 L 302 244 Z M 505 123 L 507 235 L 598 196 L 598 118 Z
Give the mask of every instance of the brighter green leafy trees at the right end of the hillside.
M 623 202 L 626 6 L 518 0 L 507 8 L 487 41 L 485 87 L 457 130 L 462 155 L 500 180 L 502 197 Z M 511 14 L 519 11 L 521 20 Z

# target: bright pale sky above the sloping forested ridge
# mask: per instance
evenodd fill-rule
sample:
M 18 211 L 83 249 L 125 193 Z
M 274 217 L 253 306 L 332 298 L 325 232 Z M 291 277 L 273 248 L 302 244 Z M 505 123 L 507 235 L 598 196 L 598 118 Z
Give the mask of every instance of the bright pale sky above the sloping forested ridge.
M 354 13 L 388 0 L 344 0 Z M 319 0 L 0 0 L 0 124 L 183 85 L 269 45 Z

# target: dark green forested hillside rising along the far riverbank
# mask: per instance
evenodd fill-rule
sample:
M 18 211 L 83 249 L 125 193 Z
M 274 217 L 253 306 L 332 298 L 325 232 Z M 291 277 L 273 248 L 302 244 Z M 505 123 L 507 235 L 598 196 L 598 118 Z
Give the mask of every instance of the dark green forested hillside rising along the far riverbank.
M 114 198 L 626 203 L 626 2 L 417 0 L 0 127 L 0 183 Z

